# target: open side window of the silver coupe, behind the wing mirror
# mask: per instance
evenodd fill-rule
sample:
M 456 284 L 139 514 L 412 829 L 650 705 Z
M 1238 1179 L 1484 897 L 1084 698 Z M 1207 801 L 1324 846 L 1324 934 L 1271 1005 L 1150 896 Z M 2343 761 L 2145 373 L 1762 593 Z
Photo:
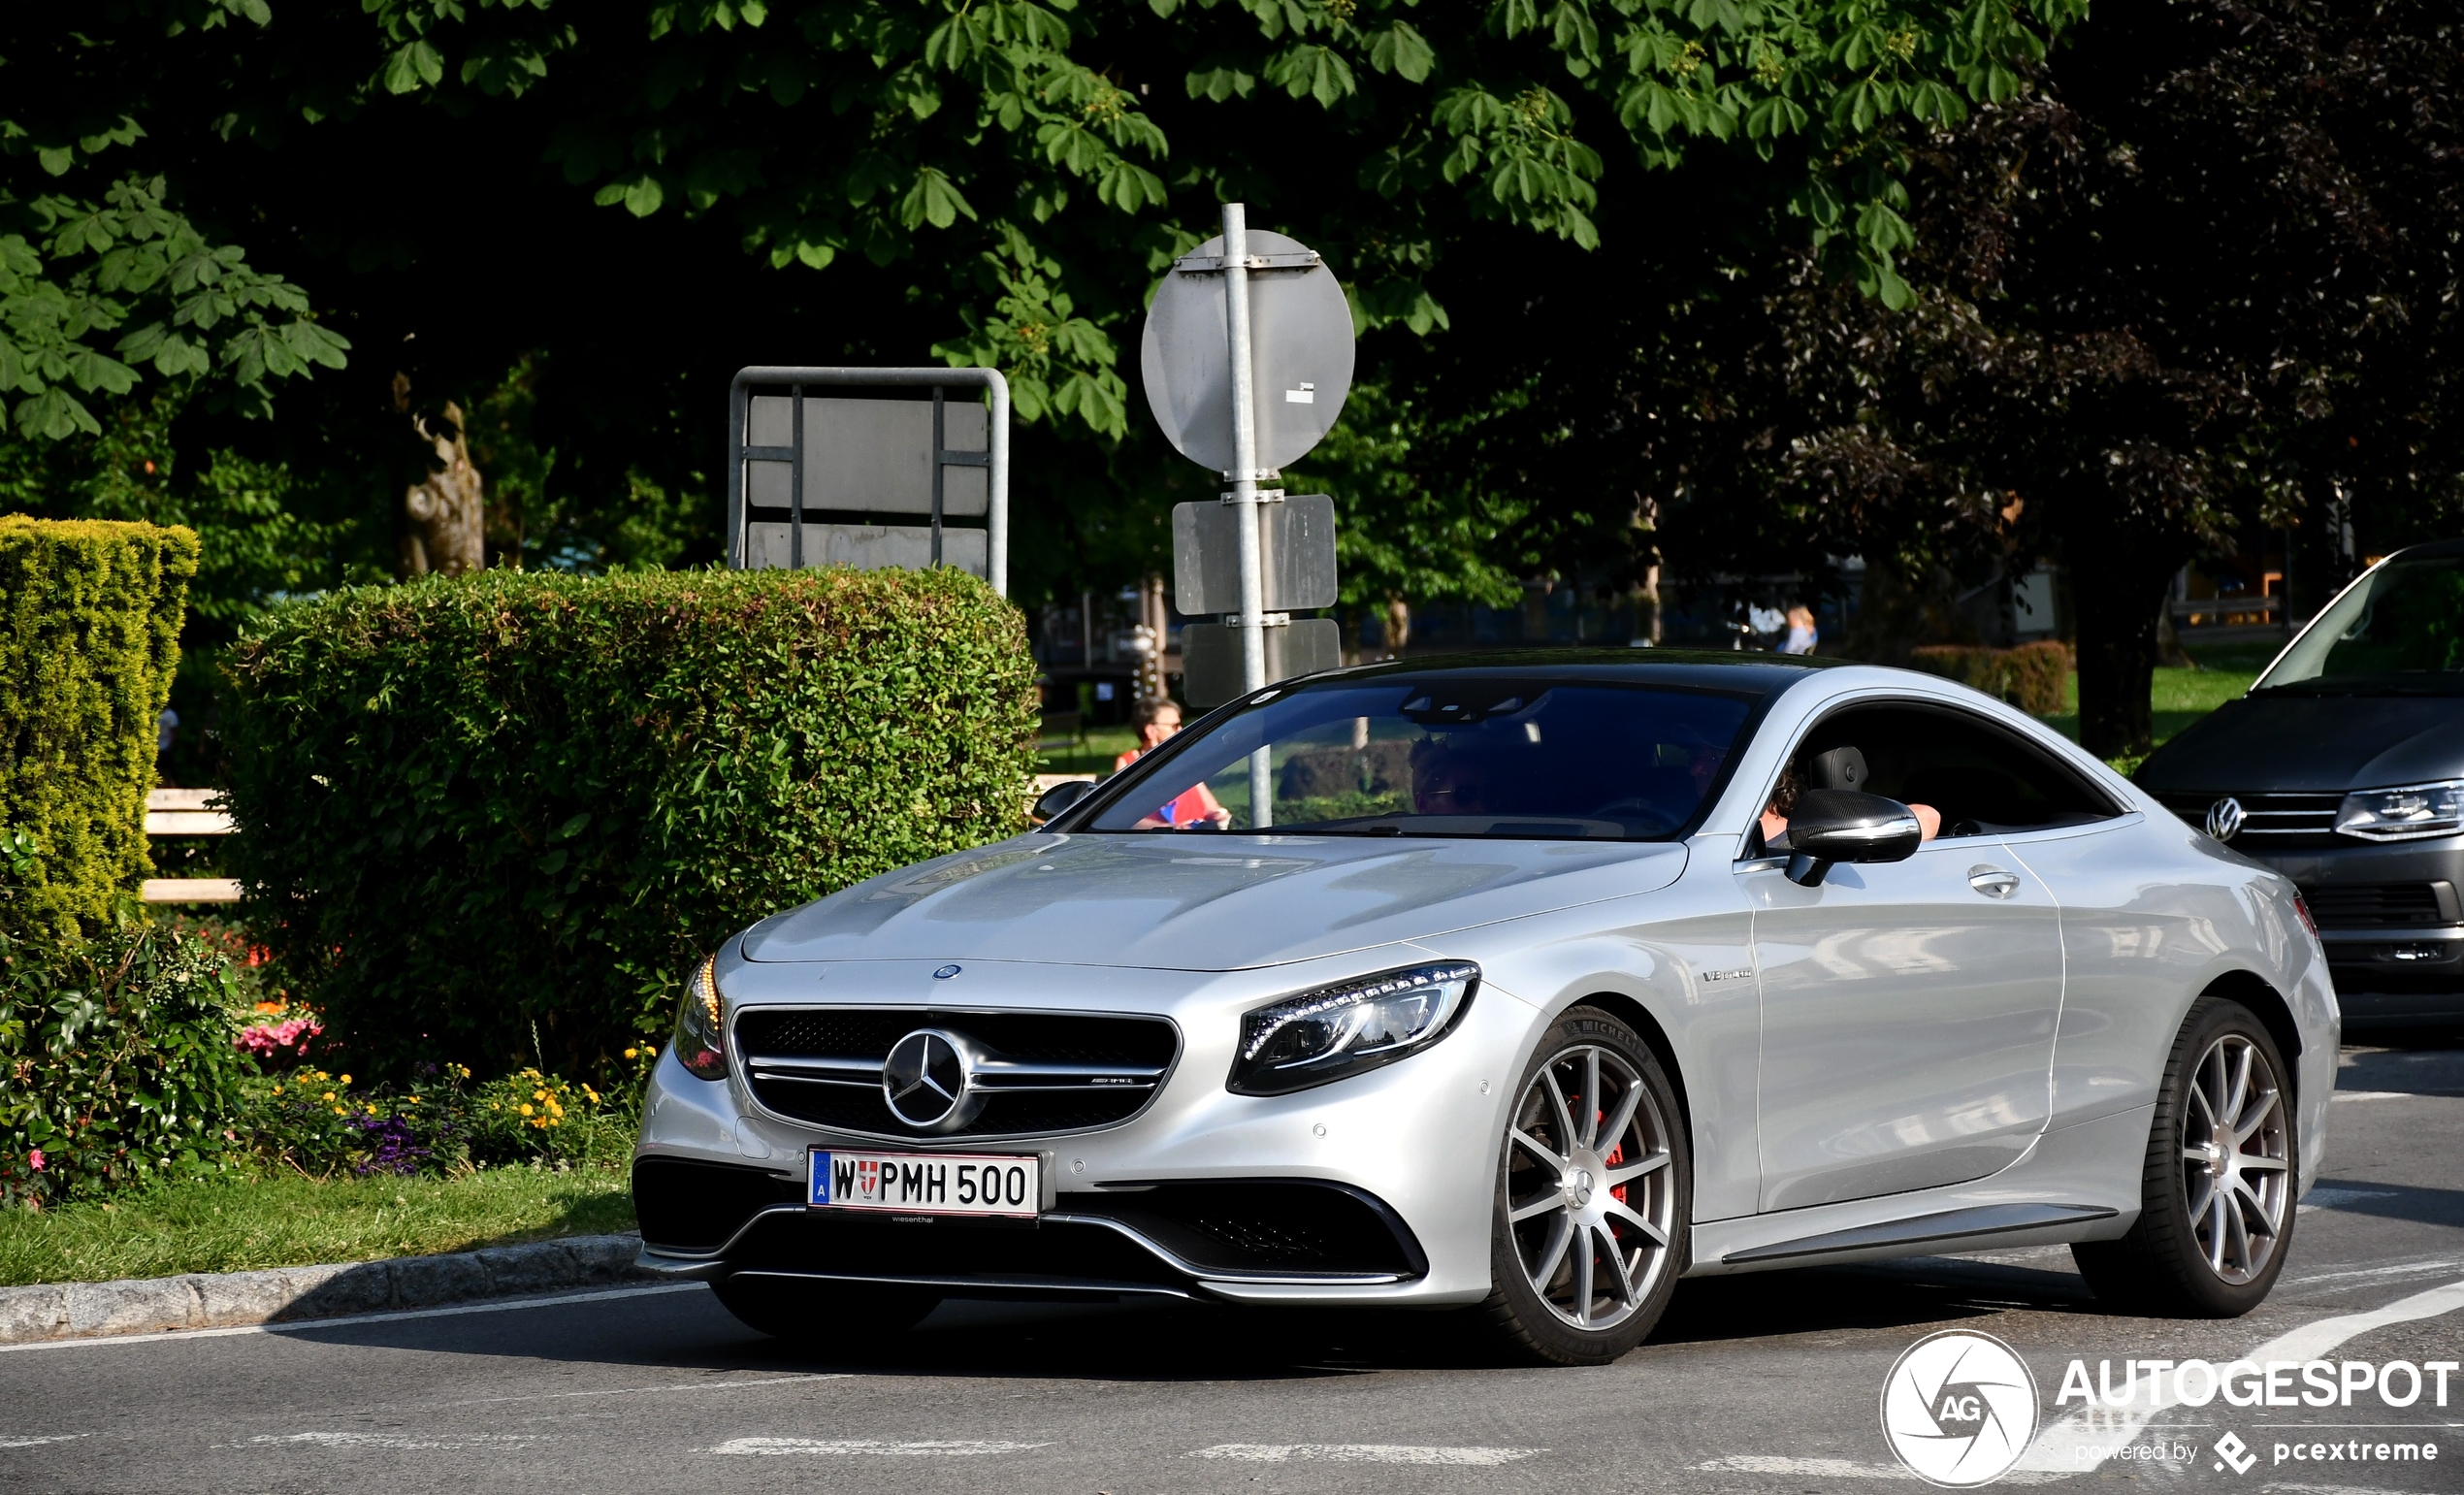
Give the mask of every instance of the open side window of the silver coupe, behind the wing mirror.
M 1868 793 L 1942 813 L 1944 840 L 2107 820 L 2114 805 L 2008 729 L 1944 707 L 1850 707 L 1796 746 L 1794 764 L 1853 746 Z M 1799 768 L 1804 773 L 1804 768 Z

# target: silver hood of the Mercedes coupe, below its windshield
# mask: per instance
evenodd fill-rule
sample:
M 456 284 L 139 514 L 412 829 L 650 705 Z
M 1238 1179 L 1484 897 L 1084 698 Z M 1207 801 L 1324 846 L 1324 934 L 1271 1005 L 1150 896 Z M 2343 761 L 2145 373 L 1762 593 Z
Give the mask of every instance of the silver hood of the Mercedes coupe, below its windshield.
M 1683 867 L 1671 842 L 1025 835 L 766 919 L 744 958 L 1242 970 L 1656 892 Z

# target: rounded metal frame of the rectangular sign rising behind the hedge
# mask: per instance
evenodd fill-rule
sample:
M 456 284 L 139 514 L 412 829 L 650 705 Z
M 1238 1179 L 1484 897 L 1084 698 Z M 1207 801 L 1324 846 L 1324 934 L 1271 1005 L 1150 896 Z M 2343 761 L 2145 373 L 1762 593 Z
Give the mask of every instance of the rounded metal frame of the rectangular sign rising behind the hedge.
M 786 397 L 756 397 L 756 387 L 786 389 Z M 821 399 L 808 397 L 808 387 L 931 389 L 931 406 L 919 399 Z M 951 389 L 988 392 L 988 409 L 973 399 L 949 404 Z M 808 451 L 816 431 L 818 453 Z M 983 480 L 951 483 L 951 468 L 961 468 L 961 478 L 981 470 Z M 781 485 L 786 493 L 779 493 Z M 821 502 L 813 502 L 816 495 Z M 756 507 L 786 510 L 786 522 L 756 525 Z M 853 520 L 912 512 L 929 525 L 813 525 L 808 507 L 850 512 Z M 986 527 L 946 527 L 951 515 L 983 515 Z M 825 562 L 958 564 L 1008 596 L 1010 382 L 998 369 L 737 369 L 727 387 L 727 564 L 803 566 L 808 539 L 823 542 Z

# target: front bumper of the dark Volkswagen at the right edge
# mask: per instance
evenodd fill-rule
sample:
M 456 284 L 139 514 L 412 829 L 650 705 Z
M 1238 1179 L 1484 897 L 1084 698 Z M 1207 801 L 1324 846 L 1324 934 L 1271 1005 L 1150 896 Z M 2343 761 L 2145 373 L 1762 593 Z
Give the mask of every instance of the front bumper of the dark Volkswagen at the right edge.
M 2464 837 L 2252 852 L 2292 877 L 2319 914 L 2319 943 L 2348 1025 L 2464 1017 Z M 2346 919 L 2338 892 L 2427 889 L 2427 919 Z

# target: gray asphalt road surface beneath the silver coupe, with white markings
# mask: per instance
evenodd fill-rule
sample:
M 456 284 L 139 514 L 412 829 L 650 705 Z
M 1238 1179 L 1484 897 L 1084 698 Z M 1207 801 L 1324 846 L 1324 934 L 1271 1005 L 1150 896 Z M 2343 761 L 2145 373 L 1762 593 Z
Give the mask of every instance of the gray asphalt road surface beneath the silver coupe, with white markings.
M 811 1352 L 663 1286 L 0 1352 L 0 1488 L 1917 1490 L 1882 1443 L 1882 1379 L 1927 1332 L 1974 1328 L 2020 1352 L 2045 1406 L 2006 1483 L 2464 1490 L 2464 1372 L 2447 1406 L 2055 1406 L 2072 1360 L 2464 1362 L 2452 1042 L 2346 1054 L 2328 1177 L 2277 1293 L 2232 1323 L 2104 1315 L 2062 1249 L 1690 1281 L 1653 1342 L 1577 1372 L 1483 1364 L 1439 1315 L 949 1305 Z M 2227 1431 L 2242 1468 L 2213 1451 Z M 2373 1438 L 2439 1461 L 2373 1461 Z

